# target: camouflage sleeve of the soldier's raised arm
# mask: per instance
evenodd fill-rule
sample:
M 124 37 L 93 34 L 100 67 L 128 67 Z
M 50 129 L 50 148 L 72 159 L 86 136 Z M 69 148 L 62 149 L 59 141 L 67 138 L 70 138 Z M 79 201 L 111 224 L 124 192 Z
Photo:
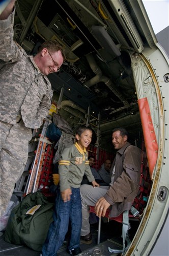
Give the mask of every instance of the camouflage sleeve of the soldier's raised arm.
M 0 59 L 5 62 L 15 62 L 23 55 L 23 49 L 13 40 L 14 36 L 14 14 L 9 15 L 7 19 L 0 20 Z

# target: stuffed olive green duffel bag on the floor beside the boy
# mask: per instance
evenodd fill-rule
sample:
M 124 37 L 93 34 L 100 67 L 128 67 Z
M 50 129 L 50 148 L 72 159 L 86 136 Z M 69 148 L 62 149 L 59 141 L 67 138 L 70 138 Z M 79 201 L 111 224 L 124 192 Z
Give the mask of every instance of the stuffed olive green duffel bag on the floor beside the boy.
M 5 241 L 41 251 L 49 225 L 53 221 L 53 205 L 41 191 L 26 195 L 12 209 L 5 231 Z

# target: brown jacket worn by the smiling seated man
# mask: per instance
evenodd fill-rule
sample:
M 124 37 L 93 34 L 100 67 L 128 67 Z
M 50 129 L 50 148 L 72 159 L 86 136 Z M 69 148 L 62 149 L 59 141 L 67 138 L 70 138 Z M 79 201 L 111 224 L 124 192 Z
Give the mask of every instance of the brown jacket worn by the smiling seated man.
M 127 142 L 116 154 L 110 171 L 115 166 L 114 184 L 104 196 L 111 204 L 110 217 L 117 217 L 132 206 L 139 189 L 141 153 L 138 147 Z

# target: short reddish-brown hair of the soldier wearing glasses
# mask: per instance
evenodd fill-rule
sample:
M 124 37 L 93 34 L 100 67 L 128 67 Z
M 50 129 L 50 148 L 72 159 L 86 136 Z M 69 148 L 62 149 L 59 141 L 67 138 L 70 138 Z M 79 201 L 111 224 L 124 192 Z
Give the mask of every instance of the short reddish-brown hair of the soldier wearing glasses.
M 44 41 L 43 44 L 38 48 L 38 52 L 41 52 L 44 48 L 47 48 L 50 52 L 61 51 L 62 57 L 65 60 L 65 53 L 63 47 L 56 41 Z

